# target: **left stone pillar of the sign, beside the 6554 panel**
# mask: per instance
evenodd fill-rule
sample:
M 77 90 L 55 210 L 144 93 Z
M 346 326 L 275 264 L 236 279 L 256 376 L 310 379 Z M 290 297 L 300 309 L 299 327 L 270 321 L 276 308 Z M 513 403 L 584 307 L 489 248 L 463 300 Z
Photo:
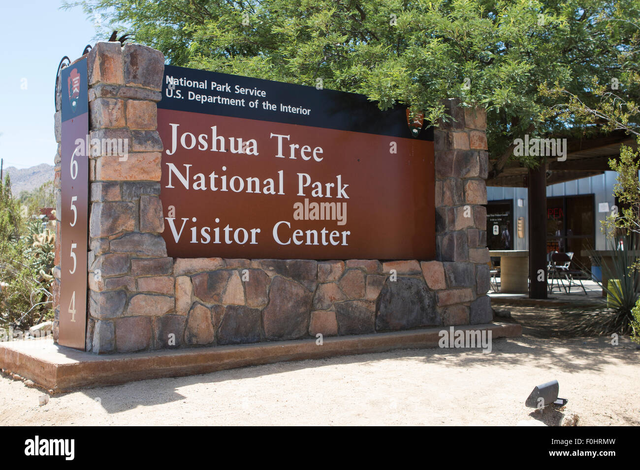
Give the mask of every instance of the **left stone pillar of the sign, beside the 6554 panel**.
M 88 55 L 90 135 L 113 144 L 90 161 L 88 351 L 149 349 L 154 315 L 175 306 L 173 260 L 160 235 L 163 68 L 159 51 L 138 44 L 99 42 Z

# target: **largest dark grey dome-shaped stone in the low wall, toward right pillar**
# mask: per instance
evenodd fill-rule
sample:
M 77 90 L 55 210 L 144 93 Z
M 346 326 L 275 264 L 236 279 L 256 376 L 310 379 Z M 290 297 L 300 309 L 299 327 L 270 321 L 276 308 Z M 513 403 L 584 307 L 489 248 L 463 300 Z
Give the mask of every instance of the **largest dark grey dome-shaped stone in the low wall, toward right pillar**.
M 387 281 L 376 302 L 376 331 L 440 325 L 435 294 L 421 279 Z

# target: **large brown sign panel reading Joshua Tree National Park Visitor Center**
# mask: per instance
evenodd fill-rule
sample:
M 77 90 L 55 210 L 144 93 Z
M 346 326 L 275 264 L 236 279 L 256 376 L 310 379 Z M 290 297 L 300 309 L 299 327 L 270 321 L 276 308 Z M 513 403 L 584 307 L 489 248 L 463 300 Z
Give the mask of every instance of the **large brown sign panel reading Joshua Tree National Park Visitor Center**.
M 346 102 L 347 112 L 350 107 L 351 114 L 364 116 L 360 95 L 167 69 L 167 77 L 189 72 L 209 77 L 166 78 L 169 86 L 159 104 L 163 237 L 169 256 L 435 256 L 433 141 L 411 137 L 404 110 L 391 116 L 392 132 L 364 132 L 369 127 L 358 127 L 322 101 L 333 107 Z M 282 107 L 285 98 L 278 87 L 291 88 L 287 99 L 295 106 Z M 241 104 L 243 93 L 234 93 L 238 89 L 257 90 L 260 98 L 252 103 L 260 113 L 243 109 L 251 105 Z M 226 105 L 220 99 L 225 93 L 232 97 Z M 218 97 L 216 106 L 206 107 L 211 97 Z M 265 102 L 274 106 L 273 117 L 264 117 Z M 291 118 L 294 107 L 298 116 Z M 376 112 L 381 113 L 369 107 L 366 115 L 375 118 Z M 389 116 L 381 114 L 377 123 Z

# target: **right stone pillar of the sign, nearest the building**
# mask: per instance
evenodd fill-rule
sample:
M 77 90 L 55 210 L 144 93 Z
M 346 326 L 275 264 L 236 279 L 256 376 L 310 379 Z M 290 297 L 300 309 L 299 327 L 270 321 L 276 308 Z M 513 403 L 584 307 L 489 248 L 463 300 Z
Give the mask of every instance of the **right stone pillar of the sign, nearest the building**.
M 489 251 L 486 247 L 488 152 L 486 111 L 445 100 L 452 121 L 434 131 L 436 176 L 436 259 L 442 263 L 445 290 L 438 292 L 445 324 L 492 320 Z M 435 266 L 435 265 L 434 265 Z M 457 319 L 455 321 L 454 319 Z

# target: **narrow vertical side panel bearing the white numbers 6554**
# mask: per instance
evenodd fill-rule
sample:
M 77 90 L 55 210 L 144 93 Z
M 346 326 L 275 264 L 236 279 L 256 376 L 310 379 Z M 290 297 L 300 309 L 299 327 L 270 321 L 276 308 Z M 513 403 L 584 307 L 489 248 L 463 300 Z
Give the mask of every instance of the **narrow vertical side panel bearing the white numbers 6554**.
M 60 333 L 58 343 L 84 350 L 87 294 L 89 113 L 86 58 L 61 72 Z M 79 145 L 78 139 L 83 144 Z

